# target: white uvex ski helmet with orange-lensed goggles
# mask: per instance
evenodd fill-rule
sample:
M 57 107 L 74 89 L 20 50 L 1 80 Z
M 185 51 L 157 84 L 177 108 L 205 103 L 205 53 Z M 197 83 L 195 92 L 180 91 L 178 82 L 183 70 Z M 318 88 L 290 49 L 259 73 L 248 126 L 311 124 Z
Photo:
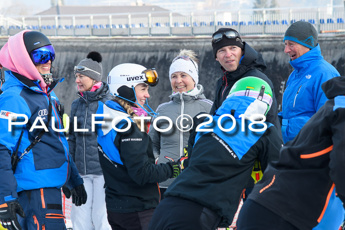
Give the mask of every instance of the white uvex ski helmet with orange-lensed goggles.
M 125 63 L 113 67 L 107 77 L 109 90 L 114 96 L 136 101 L 134 88 L 144 83 L 155 86 L 158 83 L 158 74 L 155 68 L 147 69 L 144 66 Z

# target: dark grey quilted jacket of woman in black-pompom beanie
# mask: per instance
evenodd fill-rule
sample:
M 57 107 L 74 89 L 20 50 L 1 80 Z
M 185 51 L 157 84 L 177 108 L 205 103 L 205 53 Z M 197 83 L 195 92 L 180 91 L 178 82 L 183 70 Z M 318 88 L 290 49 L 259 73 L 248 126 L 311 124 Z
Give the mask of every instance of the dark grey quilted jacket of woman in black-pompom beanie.
M 91 120 L 92 114 L 96 114 L 98 109 L 98 101 L 105 102 L 114 97 L 105 82 L 102 82 L 101 87 L 95 92 L 85 91 L 83 96 L 78 92 L 77 95 L 79 99 L 73 100 L 70 106 L 69 153 L 80 174 L 102 174 L 97 134 L 91 131 Z M 77 129 L 88 129 L 88 131 L 74 131 L 74 117 L 77 117 Z

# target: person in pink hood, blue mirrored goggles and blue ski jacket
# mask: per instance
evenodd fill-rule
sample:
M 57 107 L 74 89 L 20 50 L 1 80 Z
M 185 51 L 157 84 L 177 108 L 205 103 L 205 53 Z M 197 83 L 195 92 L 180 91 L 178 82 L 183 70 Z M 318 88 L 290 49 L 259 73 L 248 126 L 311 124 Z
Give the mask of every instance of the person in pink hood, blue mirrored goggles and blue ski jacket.
M 64 184 L 73 203 L 86 202 L 53 91 L 63 81 L 52 77 L 54 59 L 50 40 L 36 31 L 9 37 L 0 50 L 9 69 L 0 95 L 0 224 L 9 230 L 66 230 Z

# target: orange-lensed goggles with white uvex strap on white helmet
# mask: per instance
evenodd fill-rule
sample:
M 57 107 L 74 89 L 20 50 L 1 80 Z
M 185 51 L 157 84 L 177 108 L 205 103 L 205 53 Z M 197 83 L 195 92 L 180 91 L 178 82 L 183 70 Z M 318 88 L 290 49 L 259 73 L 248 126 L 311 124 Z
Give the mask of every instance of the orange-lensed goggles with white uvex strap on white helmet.
M 128 84 L 128 83 L 137 83 L 142 82 L 149 86 L 155 86 L 158 83 L 158 74 L 155 68 L 149 68 L 141 72 L 140 75 L 127 75 L 125 81 L 119 82 L 118 78 L 113 78 L 113 81 L 111 82 L 111 76 L 108 76 L 108 84 L 116 83 L 116 84 Z M 124 77 L 122 79 L 124 79 Z

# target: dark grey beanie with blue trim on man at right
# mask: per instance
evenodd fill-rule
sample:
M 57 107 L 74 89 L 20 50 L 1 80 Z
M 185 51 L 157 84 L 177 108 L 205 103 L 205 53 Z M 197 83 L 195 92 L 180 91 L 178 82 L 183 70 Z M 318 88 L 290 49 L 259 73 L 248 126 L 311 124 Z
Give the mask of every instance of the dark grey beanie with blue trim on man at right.
M 317 37 L 317 31 L 311 23 L 298 21 L 287 28 L 283 42 L 285 40 L 295 41 L 312 49 L 317 45 Z

